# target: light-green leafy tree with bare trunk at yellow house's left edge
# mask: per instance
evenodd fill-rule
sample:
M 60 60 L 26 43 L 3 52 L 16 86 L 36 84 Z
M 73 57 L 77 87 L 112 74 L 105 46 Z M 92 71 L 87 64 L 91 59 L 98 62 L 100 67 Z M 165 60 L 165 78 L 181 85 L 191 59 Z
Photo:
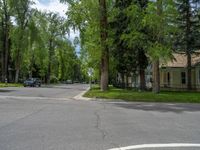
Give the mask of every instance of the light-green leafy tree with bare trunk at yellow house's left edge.
M 177 31 L 174 20 L 177 13 L 173 0 L 150 2 L 144 17 L 148 33 L 147 54 L 152 61 L 153 92 L 160 92 L 159 63 L 168 61 Z

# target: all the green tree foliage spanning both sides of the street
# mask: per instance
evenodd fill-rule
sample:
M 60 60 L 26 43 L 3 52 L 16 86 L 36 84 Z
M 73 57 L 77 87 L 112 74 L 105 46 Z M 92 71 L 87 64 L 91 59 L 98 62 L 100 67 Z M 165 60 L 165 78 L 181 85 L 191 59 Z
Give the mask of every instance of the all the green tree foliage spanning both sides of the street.
M 102 49 L 99 1 L 60 1 L 69 4 L 67 19 L 32 9 L 31 0 L 0 0 L 0 52 L 5 56 L 7 35 L 11 75 L 37 76 L 44 81 L 82 80 L 88 79 L 88 68 L 93 68 L 94 79 L 99 79 Z M 171 58 L 174 49 L 194 51 L 200 47 L 197 0 L 163 0 L 161 13 L 157 7 L 161 1 L 106 2 L 108 38 L 104 44 L 110 52 L 110 79 L 119 72 L 132 74 L 144 69 L 147 57 L 162 63 Z M 186 34 L 188 6 L 190 32 Z M 71 28 L 80 32 L 73 44 L 66 38 Z M 75 46 L 79 45 L 78 57 Z M 1 70 L 4 67 L 2 61 Z

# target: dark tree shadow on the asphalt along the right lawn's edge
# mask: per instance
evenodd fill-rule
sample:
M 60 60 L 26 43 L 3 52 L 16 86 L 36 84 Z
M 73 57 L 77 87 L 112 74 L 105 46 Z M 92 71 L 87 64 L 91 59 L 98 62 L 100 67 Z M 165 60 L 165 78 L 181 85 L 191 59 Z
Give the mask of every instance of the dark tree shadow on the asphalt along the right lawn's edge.
M 174 112 L 174 113 L 183 113 L 183 112 L 196 112 L 200 111 L 199 104 L 162 104 L 162 103 L 116 103 L 118 107 L 123 107 L 126 109 L 135 109 L 143 111 L 158 111 L 158 112 Z

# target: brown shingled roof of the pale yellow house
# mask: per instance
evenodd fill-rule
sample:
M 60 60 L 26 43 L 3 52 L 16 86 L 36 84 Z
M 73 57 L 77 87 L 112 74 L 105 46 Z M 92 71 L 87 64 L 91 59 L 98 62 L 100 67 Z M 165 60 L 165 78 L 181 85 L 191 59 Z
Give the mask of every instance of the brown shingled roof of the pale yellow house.
M 162 67 L 172 67 L 172 68 L 185 68 L 187 67 L 187 55 L 185 53 L 174 53 L 174 59 L 162 64 Z M 200 54 L 192 54 L 192 66 L 200 63 Z

